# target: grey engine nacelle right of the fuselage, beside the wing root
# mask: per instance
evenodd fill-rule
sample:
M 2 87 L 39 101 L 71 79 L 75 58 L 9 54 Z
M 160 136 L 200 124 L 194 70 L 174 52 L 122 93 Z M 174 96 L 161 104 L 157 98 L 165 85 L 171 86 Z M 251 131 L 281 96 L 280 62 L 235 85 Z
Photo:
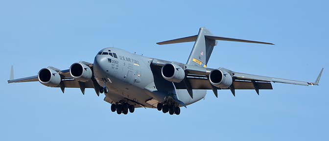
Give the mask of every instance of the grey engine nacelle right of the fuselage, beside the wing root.
M 165 64 L 161 69 L 162 77 L 170 82 L 182 82 L 185 78 L 185 72 L 182 67 L 173 63 Z

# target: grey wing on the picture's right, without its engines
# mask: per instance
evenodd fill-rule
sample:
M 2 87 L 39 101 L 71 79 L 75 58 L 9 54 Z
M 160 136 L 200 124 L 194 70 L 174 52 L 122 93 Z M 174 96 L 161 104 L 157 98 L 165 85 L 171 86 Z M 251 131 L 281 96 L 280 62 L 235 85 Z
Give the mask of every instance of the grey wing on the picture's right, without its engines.
M 156 65 L 158 67 L 162 67 L 166 63 L 170 63 L 170 62 L 159 60 L 159 59 L 154 59 L 152 62 L 153 65 Z M 208 79 L 210 72 L 214 69 L 198 67 L 198 66 L 189 66 L 185 64 L 178 64 L 178 65 L 185 68 L 187 77 L 185 80 L 183 80 L 180 83 L 174 83 L 176 89 L 187 89 L 188 91 L 191 89 L 212 90 L 214 94 L 217 96 L 217 90 L 219 90 L 220 88 L 212 86 Z M 226 71 L 233 77 L 233 85 L 230 88 L 226 88 L 226 89 L 230 89 L 233 95 L 235 95 L 235 89 L 256 90 L 257 94 L 259 94 L 259 90 L 272 90 L 273 87 L 271 82 L 303 85 L 303 86 L 319 85 L 319 80 L 323 71 L 322 69 L 315 82 L 305 82 L 305 81 L 296 81 L 296 80 L 240 73 L 240 72 L 230 71 L 225 68 L 219 68 L 219 70 Z M 189 93 L 192 93 L 192 91 L 189 91 Z

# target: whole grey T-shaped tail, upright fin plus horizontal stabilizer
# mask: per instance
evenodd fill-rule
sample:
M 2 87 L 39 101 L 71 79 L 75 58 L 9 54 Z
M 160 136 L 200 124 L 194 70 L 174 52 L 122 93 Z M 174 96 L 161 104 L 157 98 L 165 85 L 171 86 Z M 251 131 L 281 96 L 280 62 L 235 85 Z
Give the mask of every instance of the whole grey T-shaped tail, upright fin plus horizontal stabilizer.
M 205 27 L 200 28 L 198 35 L 159 42 L 157 44 L 166 45 L 175 43 L 195 42 L 192 51 L 189 54 L 187 64 L 206 68 L 209 58 L 211 56 L 212 49 L 214 46 L 217 45 L 216 40 L 274 45 L 272 43 L 213 36 L 211 32 Z

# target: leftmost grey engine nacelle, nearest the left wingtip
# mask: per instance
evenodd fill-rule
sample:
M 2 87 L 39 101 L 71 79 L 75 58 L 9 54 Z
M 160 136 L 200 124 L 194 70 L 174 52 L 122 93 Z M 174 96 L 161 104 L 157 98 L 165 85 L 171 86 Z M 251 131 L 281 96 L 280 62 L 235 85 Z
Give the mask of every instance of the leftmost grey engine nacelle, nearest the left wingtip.
M 49 68 L 41 69 L 38 72 L 39 82 L 48 87 L 56 87 L 61 83 L 61 76 L 57 71 Z

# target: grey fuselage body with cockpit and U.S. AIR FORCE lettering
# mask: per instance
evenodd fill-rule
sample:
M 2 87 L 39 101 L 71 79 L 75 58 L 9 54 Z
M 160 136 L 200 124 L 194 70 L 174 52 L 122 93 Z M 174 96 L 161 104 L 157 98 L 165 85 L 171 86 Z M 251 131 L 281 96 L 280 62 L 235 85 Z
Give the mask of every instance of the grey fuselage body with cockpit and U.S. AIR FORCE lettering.
M 155 103 L 163 102 L 166 96 L 173 94 L 186 105 L 205 96 L 205 90 L 193 90 L 193 98 L 187 90 L 176 90 L 172 82 L 162 78 L 161 72 L 152 69 L 152 61 L 153 58 L 115 47 L 99 51 L 94 58 L 94 76 L 100 86 L 109 88 L 104 100 L 109 103 L 134 101 L 144 107 L 156 108 Z

